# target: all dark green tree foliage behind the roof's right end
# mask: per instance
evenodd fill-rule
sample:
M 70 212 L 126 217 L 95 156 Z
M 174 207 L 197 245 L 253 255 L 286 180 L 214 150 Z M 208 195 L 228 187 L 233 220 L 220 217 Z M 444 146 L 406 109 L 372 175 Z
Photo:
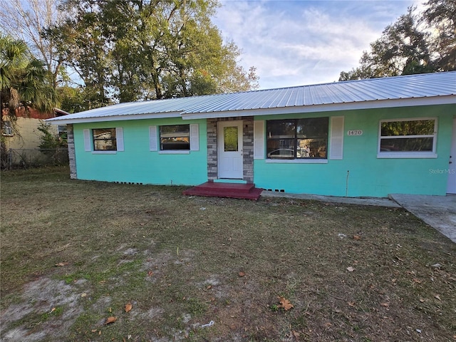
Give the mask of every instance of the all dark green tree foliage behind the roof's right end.
M 428 0 L 423 13 L 407 14 L 385 28 L 364 51 L 360 66 L 339 81 L 456 70 L 456 2 Z

